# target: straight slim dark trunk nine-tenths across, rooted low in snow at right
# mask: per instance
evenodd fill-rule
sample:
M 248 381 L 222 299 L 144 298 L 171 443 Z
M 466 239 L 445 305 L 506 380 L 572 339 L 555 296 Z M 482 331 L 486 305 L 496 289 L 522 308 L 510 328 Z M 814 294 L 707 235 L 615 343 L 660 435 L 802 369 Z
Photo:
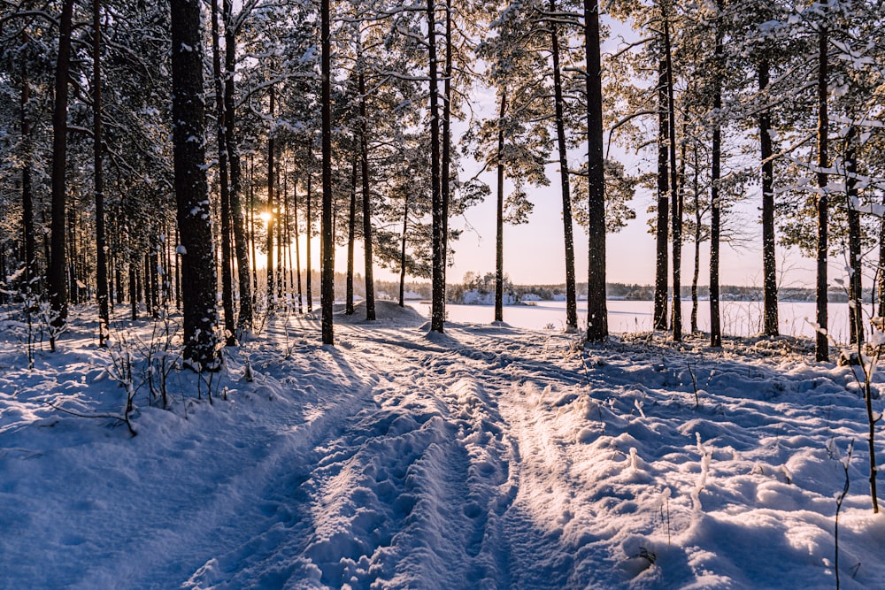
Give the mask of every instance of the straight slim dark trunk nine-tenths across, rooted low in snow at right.
M 814 360 L 829 360 L 827 342 L 827 222 L 829 199 L 827 198 L 827 135 L 829 116 L 827 113 L 827 27 L 820 27 L 818 35 L 818 258 L 817 258 L 817 324 L 818 332 L 814 341 Z

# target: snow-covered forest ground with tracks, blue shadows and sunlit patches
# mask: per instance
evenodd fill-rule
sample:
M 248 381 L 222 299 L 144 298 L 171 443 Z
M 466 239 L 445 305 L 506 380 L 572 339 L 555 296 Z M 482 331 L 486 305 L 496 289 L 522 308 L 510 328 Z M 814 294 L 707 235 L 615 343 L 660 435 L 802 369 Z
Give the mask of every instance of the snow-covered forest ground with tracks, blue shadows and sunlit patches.
M 152 324 L 112 356 L 75 314 L 28 371 L 7 323 L 0 587 L 832 588 L 846 464 L 840 581 L 881 587 L 864 401 L 802 341 L 379 317 L 334 348 L 270 318 L 223 372 L 170 372 L 169 410 Z

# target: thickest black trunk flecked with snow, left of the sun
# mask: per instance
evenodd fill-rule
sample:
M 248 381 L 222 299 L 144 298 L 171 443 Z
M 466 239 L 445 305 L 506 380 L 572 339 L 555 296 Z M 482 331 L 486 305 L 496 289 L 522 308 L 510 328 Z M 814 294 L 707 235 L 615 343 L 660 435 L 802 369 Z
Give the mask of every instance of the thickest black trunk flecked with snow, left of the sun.
M 196 0 L 171 0 L 170 4 L 175 198 L 183 247 L 182 357 L 197 371 L 216 370 L 219 368 L 215 355 L 217 280 L 212 254 L 212 211 L 209 207 L 205 173 L 200 4 Z

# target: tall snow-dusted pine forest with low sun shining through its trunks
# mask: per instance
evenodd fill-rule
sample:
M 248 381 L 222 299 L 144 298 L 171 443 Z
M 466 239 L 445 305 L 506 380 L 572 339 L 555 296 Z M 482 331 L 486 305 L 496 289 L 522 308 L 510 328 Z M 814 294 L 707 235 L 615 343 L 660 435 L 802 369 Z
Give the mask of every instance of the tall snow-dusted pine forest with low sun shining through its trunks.
M 52 346 L 70 304 L 96 305 L 101 342 L 110 310 L 174 306 L 184 358 L 212 369 L 219 342 L 235 344 L 257 314 L 312 310 L 319 235 L 324 342 L 336 246 L 347 247 L 349 313 L 356 266 L 373 317 L 380 264 L 402 284 L 432 281 L 442 333 L 459 233 L 449 220 L 496 199 L 500 320 L 504 224 L 526 223 L 533 188 L 556 183 L 572 330 L 573 225 L 589 235 L 589 340 L 608 335 L 605 235 L 635 217 L 637 191 L 654 195 L 655 327 L 674 341 L 683 248 L 693 293 L 709 249 L 718 346 L 719 252 L 747 223 L 762 226 L 766 334 L 778 332 L 777 244 L 816 259 L 819 326 L 841 280 L 827 279 L 832 257 L 850 268 L 849 299 L 866 277 L 881 315 L 882 18 L 879 3 L 835 0 L 11 0 L 2 296 Z M 466 158 L 495 180 L 467 178 Z M 748 199 L 760 217 L 732 219 Z M 824 333 L 815 356 L 828 357 Z

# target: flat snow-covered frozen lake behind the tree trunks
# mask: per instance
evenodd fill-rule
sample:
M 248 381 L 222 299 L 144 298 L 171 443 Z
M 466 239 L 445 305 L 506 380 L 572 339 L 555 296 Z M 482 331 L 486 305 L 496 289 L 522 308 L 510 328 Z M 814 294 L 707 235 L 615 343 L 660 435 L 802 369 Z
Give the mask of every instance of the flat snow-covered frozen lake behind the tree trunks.
M 413 308 L 429 317 L 428 303 L 410 303 Z M 868 307 L 868 306 L 867 306 Z M 586 326 L 587 303 L 578 302 L 578 323 Z M 650 301 L 610 300 L 608 302 L 610 332 L 648 332 L 651 329 L 653 303 Z M 452 322 L 489 324 L 495 317 L 490 305 L 446 304 L 448 318 Z M 722 332 L 735 336 L 750 336 L 762 332 L 762 303 L 720 303 Z M 691 302 L 682 302 L 682 326 L 690 327 Z M 829 332 L 837 342 L 848 340 L 848 304 L 829 304 Z M 781 334 L 785 336 L 814 335 L 809 321 L 814 320 L 814 303 L 789 302 L 778 306 Z M 806 321 L 807 320 L 809 321 Z M 531 329 L 562 329 L 566 325 L 566 303 L 539 301 L 534 305 L 504 306 L 504 322 Z M 710 302 L 698 302 L 697 326 L 706 332 L 710 329 Z

